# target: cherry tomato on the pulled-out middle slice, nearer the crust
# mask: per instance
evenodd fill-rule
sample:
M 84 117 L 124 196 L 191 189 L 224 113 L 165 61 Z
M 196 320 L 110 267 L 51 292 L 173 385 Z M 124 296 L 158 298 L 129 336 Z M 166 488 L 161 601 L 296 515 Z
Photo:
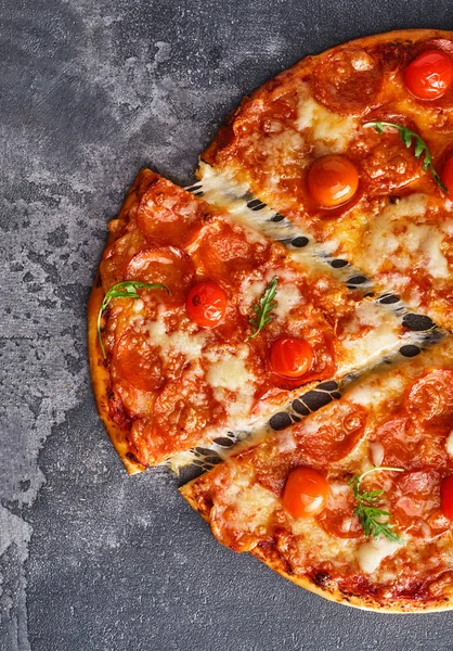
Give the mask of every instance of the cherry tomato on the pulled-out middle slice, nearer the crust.
M 198 282 L 187 294 L 185 309 L 202 328 L 216 328 L 225 316 L 226 294 L 216 282 Z

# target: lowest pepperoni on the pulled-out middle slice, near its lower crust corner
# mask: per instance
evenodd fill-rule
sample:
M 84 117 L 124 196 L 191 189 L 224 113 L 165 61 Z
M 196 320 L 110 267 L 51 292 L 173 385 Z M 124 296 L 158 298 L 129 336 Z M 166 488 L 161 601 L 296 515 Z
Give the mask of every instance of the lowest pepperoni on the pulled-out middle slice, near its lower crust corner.
M 220 424 L 224 414 L 224 408 L 215 399 L 209 384 L 203 376 L 187 371 L 168 382 L 157 397 L 154 427 L 170 447 L 177 447 L 178 441 L 189 447 L 191 442 L 199 438 L 204 427 Z

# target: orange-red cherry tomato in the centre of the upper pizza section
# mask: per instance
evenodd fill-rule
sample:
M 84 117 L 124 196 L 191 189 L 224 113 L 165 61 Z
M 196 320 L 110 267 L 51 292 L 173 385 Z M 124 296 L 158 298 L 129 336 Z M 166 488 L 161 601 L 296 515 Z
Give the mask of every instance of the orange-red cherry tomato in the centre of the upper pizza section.
M 323 156 L 314 161 L 307 177 L 308 190 L 324 208 L 339 206 L 355 194 L 359 173 L 345 156 Z

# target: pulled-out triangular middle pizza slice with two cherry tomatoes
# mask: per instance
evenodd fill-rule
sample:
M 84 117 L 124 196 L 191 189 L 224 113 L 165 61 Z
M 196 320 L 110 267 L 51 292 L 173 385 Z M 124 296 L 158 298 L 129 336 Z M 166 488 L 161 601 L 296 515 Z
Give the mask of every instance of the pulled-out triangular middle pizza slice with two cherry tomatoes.
M 129 472 L 244 431 L 301 386 L 400 348 L 412 355 L 423 340 L 401 307 L 347 289 L 148 169 L 109 233 L 89 353 L 101 418 Z

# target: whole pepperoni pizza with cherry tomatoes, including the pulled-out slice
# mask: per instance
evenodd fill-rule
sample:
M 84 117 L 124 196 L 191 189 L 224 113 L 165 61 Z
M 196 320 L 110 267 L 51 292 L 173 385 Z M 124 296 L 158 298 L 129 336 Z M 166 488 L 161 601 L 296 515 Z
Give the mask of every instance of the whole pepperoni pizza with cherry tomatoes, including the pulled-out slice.
M 341 603 L 452 609 L 453 33 L 306 58 L 197 178 L 139 174 L 89 302 L 128 472 L 207 456 L 181 492 L 226 547 Z

